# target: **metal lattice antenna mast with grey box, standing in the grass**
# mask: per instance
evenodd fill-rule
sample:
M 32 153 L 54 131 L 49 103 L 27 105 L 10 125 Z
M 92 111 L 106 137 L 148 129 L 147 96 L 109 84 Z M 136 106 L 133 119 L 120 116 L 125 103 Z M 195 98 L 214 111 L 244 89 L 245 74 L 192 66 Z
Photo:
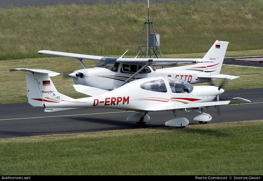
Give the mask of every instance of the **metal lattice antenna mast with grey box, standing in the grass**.
M 140 46 L 140 44 L 141 44 L 141 39 L 143 37 L 145 24 L 147 24 L 147 46 L 146 46 L 146 49 L 143 51 L 142 48 L 145 46 Z M 154 33 L 150 33 L 150 24 L 152 25 Z M 148 58 L 148 56 L 149 56 L 149 58 L 158 58 L 156 53 L 159 51 L 161 58 L 163 58 L 161 51 L 160 51 L 160 47 L 159 47 L 159 45 L 160 45 L 160 34 L 155 33 L 155 30 L 153 27 L 153 22 L 151 22 L 149 20 L 149 0 L 148 0 L 148 21 L 144 22 L 143 32 L 141 33 L 141 39 L 139 42 L 139 46 L 138 46 L 136 55 L 138 56 L 138 54 L 141 53 L 140 58 Z

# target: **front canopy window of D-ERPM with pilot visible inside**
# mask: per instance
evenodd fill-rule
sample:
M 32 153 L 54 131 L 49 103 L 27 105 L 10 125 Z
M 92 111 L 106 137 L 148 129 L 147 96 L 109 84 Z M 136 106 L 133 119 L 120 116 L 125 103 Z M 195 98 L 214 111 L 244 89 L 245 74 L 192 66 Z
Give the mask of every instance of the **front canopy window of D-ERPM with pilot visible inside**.
M 191 93 L 194 87 L 178 78 L 172 78 L 168 80 L 169 86 L 173 93 Z

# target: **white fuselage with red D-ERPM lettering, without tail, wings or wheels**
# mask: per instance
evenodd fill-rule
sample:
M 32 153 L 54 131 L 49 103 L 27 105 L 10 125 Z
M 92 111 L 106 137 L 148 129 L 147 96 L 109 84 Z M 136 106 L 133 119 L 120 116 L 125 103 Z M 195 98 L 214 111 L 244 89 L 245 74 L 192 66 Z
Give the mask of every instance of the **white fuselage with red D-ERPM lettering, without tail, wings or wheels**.
M 171 82 L 173 85 L 171 86 Z M 181 79 L 153 77 L 137 80 L 94 97 L 61 101 L 56 107 L 108 107 L 123 110 L 149 111 L 159 106 L 211 102 L 223 93 L 214 86 L 192 86 Z M 48 104 L 46 104 L 48 107 Z M 54 104 L 50 104 L 54 107 Z

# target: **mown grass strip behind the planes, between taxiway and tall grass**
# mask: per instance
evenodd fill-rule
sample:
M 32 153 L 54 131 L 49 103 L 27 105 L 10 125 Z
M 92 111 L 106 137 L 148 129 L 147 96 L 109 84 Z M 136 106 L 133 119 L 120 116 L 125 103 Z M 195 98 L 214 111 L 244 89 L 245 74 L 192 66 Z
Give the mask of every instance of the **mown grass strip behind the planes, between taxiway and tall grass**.
M 83 61 L 87 68 L 93 68 L 97 61 Z M 8 72 L 12 68 L 32 68 L 48 69 L 61 73 L 52 77 L 52 81 L 57 90 L 72 98 L 82 98 L 86 95 L 77 92 L 72 85 L 73 78 L 67 78 L 67 74 L 72 73 L 83 67 L 74 58 L 53 57 L 53 58 L 30 58 L 17 60 L 3 60 L 0 67 L 0 103 L 19 103 L 28 102 L 26 97 L 26 74 L 27 72 Z M 233 67 L 223 65 L 221 74 L 240 76 L 240 78 L 228 81 L 224 89 L 246 89 L 263 87 L 261 80 L 262 68 L 256 67 Z M 215 80 L 215 85 L 220 85 L 222 80 Z M 18 86 L 19 85 L 19 86 Z M 208 83 L 194 85 L 209 85 Z

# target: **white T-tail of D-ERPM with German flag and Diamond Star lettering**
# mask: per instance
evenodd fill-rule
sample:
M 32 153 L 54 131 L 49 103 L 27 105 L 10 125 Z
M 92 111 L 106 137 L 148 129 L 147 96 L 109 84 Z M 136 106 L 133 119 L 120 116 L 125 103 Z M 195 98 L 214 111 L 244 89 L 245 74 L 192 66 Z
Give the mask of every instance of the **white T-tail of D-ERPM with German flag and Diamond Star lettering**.
M 33 107 L 44 107 L 45 112 L 76 109 L 84 107 L 86 102 L 79 102 L 77 99 L 61 94 L 55 88 L 50 76 L 60 73 L 39 70 L 39 69 L 11 69 L 10 71 L 27 71 L 33 74 L 26 75 L 28 103 Z M 78 103 L 76 106 L 76 104 Z M 74 105 L 71 107 L 71 105 Z

